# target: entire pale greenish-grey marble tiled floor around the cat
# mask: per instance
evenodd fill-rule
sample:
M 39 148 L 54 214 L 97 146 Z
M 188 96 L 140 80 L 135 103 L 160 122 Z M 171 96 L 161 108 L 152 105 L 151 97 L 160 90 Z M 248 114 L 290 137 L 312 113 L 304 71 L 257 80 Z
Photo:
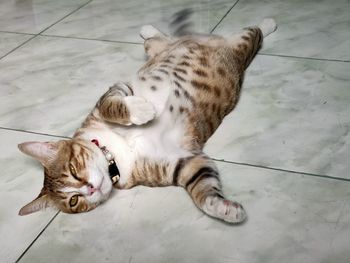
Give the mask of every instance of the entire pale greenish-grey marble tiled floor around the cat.
M 115 191 L 79 215 L 17 216 L 42 168 L 17 144 L 72 135 L 144 62 L 138 30 L 190 7 L 227 35 L 274 17 L 240 103 L 210 139 L 249 220 L 204 216 L 182 189 Z M 350 262 L 350 3 L 312 0 L 0 2 L 1 262 Z

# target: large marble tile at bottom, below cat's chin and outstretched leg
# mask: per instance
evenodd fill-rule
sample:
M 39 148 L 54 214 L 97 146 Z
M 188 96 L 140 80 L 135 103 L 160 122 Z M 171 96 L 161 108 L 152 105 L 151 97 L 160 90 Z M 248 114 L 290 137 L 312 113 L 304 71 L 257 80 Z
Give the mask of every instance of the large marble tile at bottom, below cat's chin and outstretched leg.
M 203 215 L 182 189 L 136 187 L 59 214 L 22 262 L 348 262 L 349 182 L 218 165 L 243 225 Z

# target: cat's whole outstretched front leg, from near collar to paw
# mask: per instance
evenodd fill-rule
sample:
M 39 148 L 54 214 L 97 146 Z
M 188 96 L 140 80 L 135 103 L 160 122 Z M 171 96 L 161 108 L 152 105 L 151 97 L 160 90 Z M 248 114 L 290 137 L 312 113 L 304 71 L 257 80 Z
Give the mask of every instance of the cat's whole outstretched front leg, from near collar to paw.
M 181 158 L 172 164 L 139 159 L 130 175 L 121 178 L 116 187 L 129 189 L 137 185 L 182 186 L 195 205 L 209 216 L 229 223 L 241 223 L 246 219 L 242 205 L 224 197 L 218 170 L 214 162 L 205 155 Z

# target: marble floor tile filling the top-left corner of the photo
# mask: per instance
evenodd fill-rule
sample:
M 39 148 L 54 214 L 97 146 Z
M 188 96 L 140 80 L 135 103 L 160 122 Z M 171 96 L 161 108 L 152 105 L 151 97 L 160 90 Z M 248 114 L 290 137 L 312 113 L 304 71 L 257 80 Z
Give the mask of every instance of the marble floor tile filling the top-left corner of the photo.
M 39 33 L 88 0 L 0 1 L 0 30 Z

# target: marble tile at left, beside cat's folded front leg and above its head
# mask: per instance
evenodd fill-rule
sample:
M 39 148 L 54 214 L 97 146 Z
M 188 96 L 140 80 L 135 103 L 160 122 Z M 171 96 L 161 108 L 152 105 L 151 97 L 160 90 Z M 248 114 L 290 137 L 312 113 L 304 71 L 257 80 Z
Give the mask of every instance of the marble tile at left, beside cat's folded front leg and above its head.
M 0 61 L 0 126 L 70 136 L 142 63 L 141 45 L 37 37 Z

